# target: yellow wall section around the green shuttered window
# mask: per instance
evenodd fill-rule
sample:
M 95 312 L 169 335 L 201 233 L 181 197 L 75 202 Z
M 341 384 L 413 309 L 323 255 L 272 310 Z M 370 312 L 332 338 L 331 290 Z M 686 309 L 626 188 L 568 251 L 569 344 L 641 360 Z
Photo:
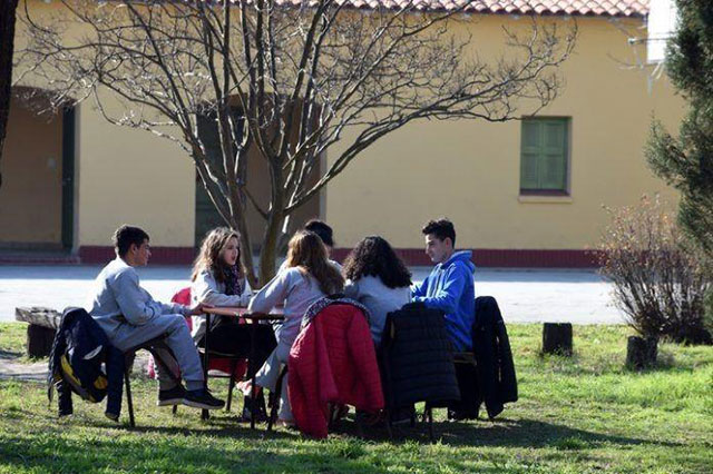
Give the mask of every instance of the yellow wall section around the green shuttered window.
M 526 18 L 471 19 L 468 28 L 481 58 L 501 48 L 504 23 L 529 28 Z M 675 199 L 647 168 L 643 147 L 652 116 L 675 131 L 684 102 L 665 75 L 649 93 L 649 68 L 617 62 L 633 61 L 634 50 L 609 20 L 580 18 L 577 24 L 575 51 L 561 68 L 565 88 L 538 113 L 572 117 L 569 197 L 519 197 L 519 121 L 411 124 L 365 150 L 331 182 L 325 217 L 338 245 L 351 247 L 380 234 L 394 247 L 420 248 L 422 224 L 447 216 L 462 248 L 582 249 L 596 244 L 608 223 L 603 206 L 631 205 L 644 192 Z M 329 152 L 328 161 L 336 155 Z

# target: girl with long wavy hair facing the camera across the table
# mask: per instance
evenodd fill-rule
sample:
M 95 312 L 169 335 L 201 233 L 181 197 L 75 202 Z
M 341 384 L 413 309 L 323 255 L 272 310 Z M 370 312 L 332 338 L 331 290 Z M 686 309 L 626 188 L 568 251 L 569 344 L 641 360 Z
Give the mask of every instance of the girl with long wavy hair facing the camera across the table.
M 243 271 L 240 237 L 236 231 L 218 227 L 208 233 L 196 257 L 192 282 L 191 298 L 194 304 L 247 306 L 252 290 Z M 251 366 L 257 368 L 264 364 L 277 343 L 270 326 L 260 325 L 255 330 L 255 358 Z M 205 334 L 206 316 L 194 316 L 192 336 L 199 347 L 205 346 Z M 238 324 L 235 318 L 211 318 L 208 350 L 212 354 L 248 357 L 252 340 L 250 327 Z M 247 377 L 251 376 L 252 372 L 248 368 Z M 254 407 L 253 401 L 245 397 L 243 417 L 250 418 L 250 411 L 255 408 L 260 411 L 262 407 Z

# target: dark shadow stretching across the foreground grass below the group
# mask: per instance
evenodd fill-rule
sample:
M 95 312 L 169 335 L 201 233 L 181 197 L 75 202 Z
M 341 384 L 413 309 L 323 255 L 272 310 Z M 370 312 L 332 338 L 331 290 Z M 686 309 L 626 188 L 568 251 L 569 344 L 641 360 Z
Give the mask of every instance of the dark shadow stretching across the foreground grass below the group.
M 16 407 L 9 412 L 8 418 L 38 417 L 29 409 Z M 0 471 L 7 467 L 9 472 L 373 472 L 406 467 L 414 455 L 426 471 L 442 465 L 453 472 L 472 468 L 468 456 L 434 453 L 432 457 L 421 457 L 419 443 L 428 443 L 424 423 L 418 423 L 416 428 L 394 427 L 394 437 L 389 441 L 383 426 L 365 428 L 364 438 L 359 438 L 356 424 L 348 418 L 321 443 L 297 432 L 267 433 L 264 424 L 251 429 L 226 414 L 198 426 L 152 426 L 160 421 L 147 414 L 143 421 L 137 418 L 139 426 L 135 428 L 128 426 L 126 415 L 121 424 L 98 419 L 96 415 L 84 412 L 0 436 Z M 179 415 L 197 419 L 199 412 L 184 411 Z M 604 445 L 619 450 L 632 445 L 682 447 L 680 443 L 593 433 L 535 419 L 438 421 L 433 425 L 436 438 L 446 446 L 544 448 L 543 455 L 554 458 L 575 455 L 580 462 L 594 456 L 588 450 Z M 370 448 L 374 443 L 388 443 L 392 456 Z M 497 456 L 495 460 L 501 461 Z M 479 466 L 478 471 L 508 470 L 497 464 L 492 468 Z

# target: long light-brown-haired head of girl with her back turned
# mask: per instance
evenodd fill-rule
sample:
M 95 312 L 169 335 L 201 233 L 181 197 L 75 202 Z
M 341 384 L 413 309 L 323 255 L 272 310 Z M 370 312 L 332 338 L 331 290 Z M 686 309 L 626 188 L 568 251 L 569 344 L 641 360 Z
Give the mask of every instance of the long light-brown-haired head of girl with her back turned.
M 330 264 L 326 247 L 314 233 L 300 230 L 290 239 L 287 267 L 297 267 L 302 273 L 312 275 L 325 295 L 340 293 L 344 288 L 344 278 Z

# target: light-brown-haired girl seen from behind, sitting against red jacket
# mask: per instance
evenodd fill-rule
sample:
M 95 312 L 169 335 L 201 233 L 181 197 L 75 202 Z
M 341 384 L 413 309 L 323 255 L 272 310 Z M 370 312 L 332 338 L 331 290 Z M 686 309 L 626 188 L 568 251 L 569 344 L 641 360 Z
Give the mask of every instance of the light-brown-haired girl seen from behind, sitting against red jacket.
M 292 237 L 286 261 L 286 268 L 265 285 L 248 306 L 250 310 L 258 313 L 270 313 L 275 306 L 284 306 L 284 323 L 275 327 L 277 347 L 256 378 L 257 385 L 270 389 L 275 388 L 280 368 L 287 362 L 292 343 L 300 333 L 304 312 L 312 303 L 323 296 L 340 293 L 344 286 L 344 279 L 329 263 L 326 248 L 314 233 L 301 230 Z M 290 424 L 293 417 L 287 401 L 286 377 L 282 385 L 279 416 L 283 423 Z

